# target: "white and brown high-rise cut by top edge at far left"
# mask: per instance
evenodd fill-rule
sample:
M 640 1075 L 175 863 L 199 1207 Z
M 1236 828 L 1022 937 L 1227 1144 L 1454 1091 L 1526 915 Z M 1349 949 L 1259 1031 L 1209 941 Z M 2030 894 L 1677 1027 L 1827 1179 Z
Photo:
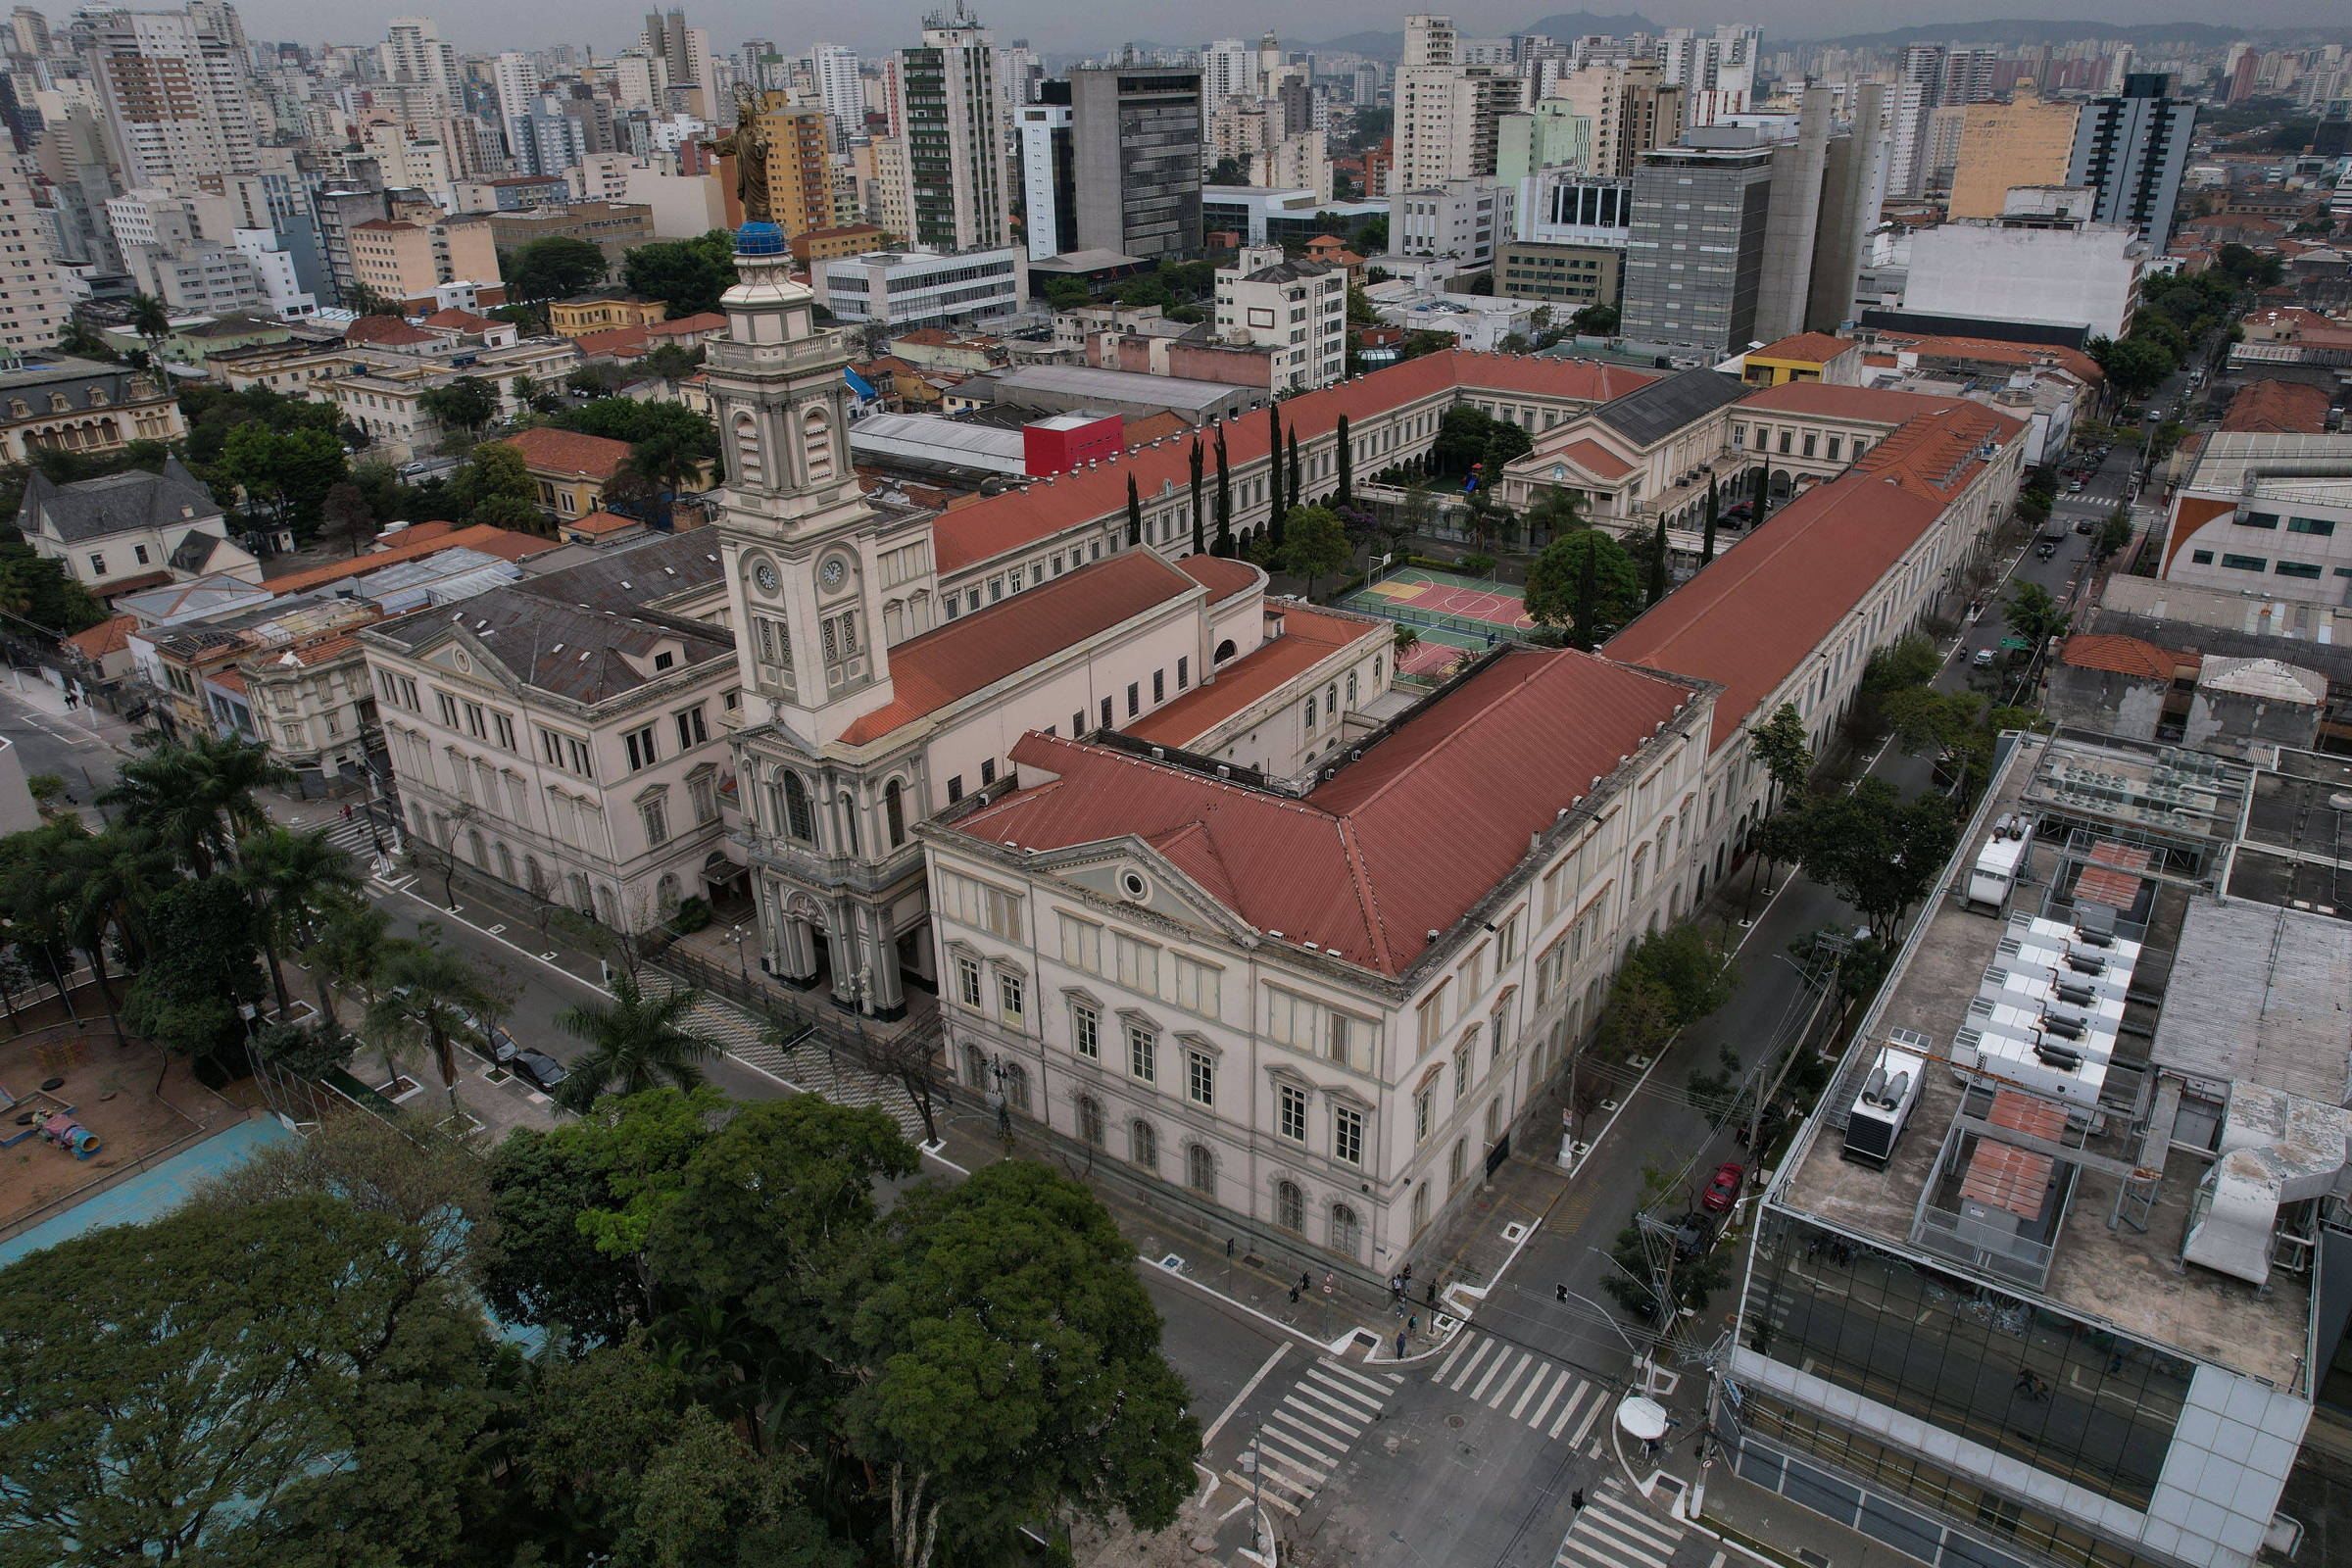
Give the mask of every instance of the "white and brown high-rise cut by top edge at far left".
M 96 12 L 87 61 L 125 183 L 254 172 L 254 110 L 233 7 Z

